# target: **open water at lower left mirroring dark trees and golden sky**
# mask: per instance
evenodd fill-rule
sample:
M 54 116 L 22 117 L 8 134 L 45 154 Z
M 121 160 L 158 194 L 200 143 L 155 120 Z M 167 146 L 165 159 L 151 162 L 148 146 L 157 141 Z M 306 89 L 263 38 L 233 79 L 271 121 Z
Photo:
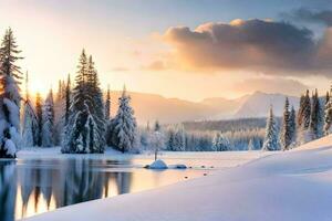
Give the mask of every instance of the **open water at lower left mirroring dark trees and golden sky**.
M 0 220 L 11 221 L 69 204 L 160 187 L 204 172 L 133 169 L 129 160 L 0 161 Z

